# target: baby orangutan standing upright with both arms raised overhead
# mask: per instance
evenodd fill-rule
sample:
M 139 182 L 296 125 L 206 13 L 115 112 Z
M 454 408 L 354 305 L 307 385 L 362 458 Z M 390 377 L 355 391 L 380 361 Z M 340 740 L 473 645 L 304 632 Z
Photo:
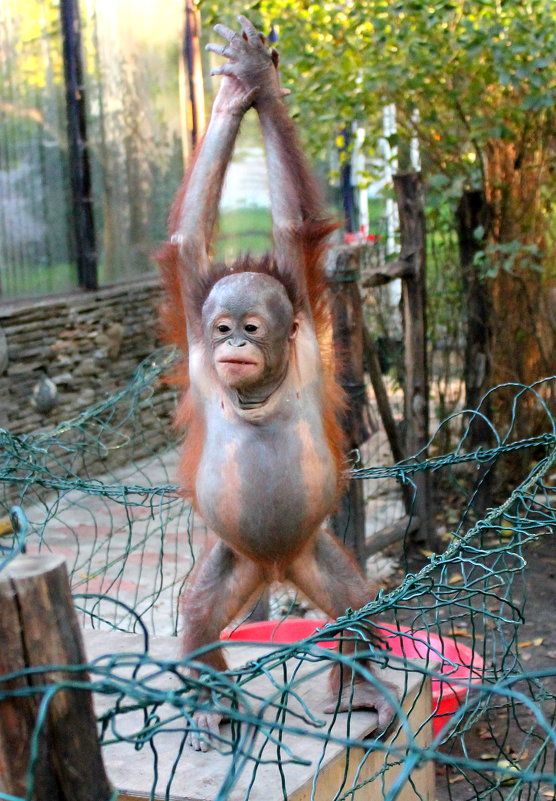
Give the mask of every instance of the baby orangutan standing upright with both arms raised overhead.
M 331 618 L 375 593 L 354 559 L 321 528 L 342 489 L 342 392 L 330 352 L 321 266 L 326 219 L 280 89 L 277 58 L 245 18 L 242 32 L 215 31 L 226 44 L 210 123 L 170 216 L 160 254 L 167 338 L 187 355 L 177 422 L 185 429 L 184 494 L 218 535 L 198 561 L 183 605 L 188 654 L 221 630 L 269 582 L 288 581 Z M 209 259 L 222 183 L 245 112 L 262 128 L 273 219 L 273 252 L 227 266 Z M 351 647 L 351 650 L 353 650 Z M 349 646 L 346 645 L 346 651 Z M 221 650 L 202 660 L 226 670 Z M 381 727 L 390 705 L 370 683 L 333 671 L 336 708 L 372 708 Z M 199 714 L 217 734 L 220 717 Z M 207 741 L 191 733 L 190 744 Z

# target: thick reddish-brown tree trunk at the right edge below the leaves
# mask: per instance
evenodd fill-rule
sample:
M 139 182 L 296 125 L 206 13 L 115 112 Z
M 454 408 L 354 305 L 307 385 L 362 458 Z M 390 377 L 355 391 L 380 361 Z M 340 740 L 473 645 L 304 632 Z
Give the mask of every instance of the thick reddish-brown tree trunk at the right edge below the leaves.
M 492 294 L 492 379 L 494 384 L 532 384 L 556 371 L 556 339 L 549 308 L 550 287 L 541 269 L 546 218 L 541 205 L 543 159 L 527 143 L 491 141 L 486 149 L 486 198 L 492 211 L 490 244 L 496 274 Z M 510 243 L 519 243 L 513 246 Z M 531 246 L 539 255 L 528 251 Z M 507 418 L 515 387 L 497 393 L 497 416 Z M 545 427 L 532 394 L 524 396 L 516 435 Z

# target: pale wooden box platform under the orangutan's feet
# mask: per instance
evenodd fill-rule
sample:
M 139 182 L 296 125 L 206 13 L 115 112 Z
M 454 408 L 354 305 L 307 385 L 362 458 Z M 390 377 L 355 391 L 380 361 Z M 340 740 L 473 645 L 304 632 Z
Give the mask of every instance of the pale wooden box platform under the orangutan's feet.
M 133 652 L 141 653 L 143 649 L 143 638 L 140 635 L 121 634 L 118 632 L 86 632 L 86 644 L 89 659 L 101 659 L 103 654 L 107 658 L 113 658 L 117 654 L 130 654 Z M 235 647 L 228 647 L 227 658 L 232 667 L 238 667 L 253 659 L 260 657 L 265 651 L 263 646 L 250 646 L 246 644 L 235 644 Z M 152 638 L 149 645 L 149 655 L 153 659 L 172 660 L 179 652 L 179 641 L 173 637 Z M 285 783 L 288 798 L 291 801 L 308 801 L 311 798 L 315 773 L 318 771 L 317 801 L 330 801 L 336 792 L 342 787 L 349 790 L 351 782 L 358 774 L 357 782 L 365 778 L 371 778 L 384 765 L 384 753 L 380 751 L 371 752 L 363 749 L 350 749 L 347 752 L 339 744 L 329 742 L 325 744 L 318 741 L 313 734 L 326 733 L 332 726 L 332 716 L 325 715 L 323 708 L 328 697 L 327 673 L 326 670 L 311 677 L 317 666 L 314 663 L 299 662 L 292 660 L 289 665 L 289 675 L 292 677 L 295 671 L 296 691 L 299 693 L 301 701 L 318 720 L 322 721 L 322 728 L 311 727 L 307 722 L 306 715 L 299 718 L 289 718 L 288 722 L 295 726 L 301 733 L 294 734 L 285 732 L 283 736 L 284 748 L 282 750 L 282 774 L 276 764 L 260 764 L 254 777 L 253 787 L 251 788 L 250 801 L 281 801 L 283 798 L 282 778 Z M 116 661 L 114 669 L 122 675 L 130 676 L 134 663 L 127 660 L 127 667 L 122 664 L 120 667 Z M 149 676 L 152 682 L 152 667 L 148 665 L 141 667 L 137 678 Z M 278 687 L 283 683 L 284 677 L 282 667 L 272 671 Z M 380 671 L 380 679 L 394 683 L 400 694 L 405 694 L 404 710 L 408 715 L 410 727 L 417 734 L 419 745 L 426 745 L 431 738 L 431 725 L 428 718 L 431 713 L 431 694 L 430 682 L 428 679 L 423 681 L 421 674 L 417 672 L 406 672 L 385 668 Z M 156 679 L 157 688 L 171 692 L 179 686 L 179 680 L 169 672 L 161 672 Z M 249 690 L 260 697 L 261 714 L 263 704 L 272 696 L 280 697 L 276 685 L 265 676 L 260 676 L 249 683 Z M 95 698 L 97 712 L 102 713 L 112 708 L 115 700 L 111 696 L 97 695 Z M 303 707 L 295 698 L 288 699 L 288 708 L 293 712 L 301 713 Z M 252 713 L 257 714 L 256 705 L 252 708 Z M 164 719 L 165 714 L 172 715 L 171 707 L 160 707 L 157 714 Z M 268 712 L 264 715 L 268 719 Z M 272 716 L 270 719 L 273 719 Z M 141 711 L 130 712 L 120 715 L 117 721 L 118 731 L 122 736 L 132 735 L 134 731 L 141 730 L 144 725 L 144 718 Z M 174 731 L 170 728 L 174 727 Z M 376 716 L 372 712 L 354 712 L 351 715 L 339 714 L 332 727 L 332 734 L 336 737 L 351 736 L 364 739 L 376 726 Z M 167 799 L 167 801 L 213 801 L 216 797 L 231 765 L 231 756 L 222 754 L 216 750 L 207 753 L 190 750 L 186 748 L 176 763 L 179 748 L 182 743 L 183 734 L 182 724 L 169 724 L 168 731 L 163 731 L 156 735 L 155 747 L 158 755 L 157 771 L 158 782 L 155 787 L 155 799 Z M 306 732 L 306 736 L 303 736 Z M 229 737 L 230 728 L 225 726 L 223 733 Z M 396 745 L 402 745 L 403 734 L 395 731 L 391 735 Z M 258 755 L 260 747 L 264 744 L 262 735 L 259 732 L 250 749 L 253 756 Z M 286 748 L 290 748 L 295 754 L 309 760 L 309 765 L 298 765 L 288 763 Z M 275 745 L 267 745 L 263 752 L 263 760 L 277 759 L 277 749 Z M 104 749 L 104 757 L 109 775 L 113 783 L 120 789 L 120 801 L 139 801 L 149 797 L 151 787 L 154 782 L 153 758 L 151 753 L 137 752 L 133 747 L 133 742 L 119 742 L 109 745 Z M 391 761 L 398 761 L 399 755 Z M 403 757 L 402 757 L 403 758 Z M 344 782 L 344 768 L 348 760 L 347 783 Z M 237 782 L 230 790 L 228 801 L 242 801 L 246 795 L 249 784 L 253 779 L 253 763 L 247 763 L 245 769 L 240 774 Z M 174 773 L 172 773 L 174 771 Z M 363 787 L 353 796 L 353 801 L 382 801 L 384 787 L 391 786 L 395 779 L 396 770 L 390 768 L 372 785 Z M 171 779 L 169 795 L 165 795 L 168 782 Z M 417 799 L 434 799 L 434 772 L 430 768 L 423 771 L 412 773 L 412 783 L 406 783 L 398 796 L 399 801 L 417 801 Z

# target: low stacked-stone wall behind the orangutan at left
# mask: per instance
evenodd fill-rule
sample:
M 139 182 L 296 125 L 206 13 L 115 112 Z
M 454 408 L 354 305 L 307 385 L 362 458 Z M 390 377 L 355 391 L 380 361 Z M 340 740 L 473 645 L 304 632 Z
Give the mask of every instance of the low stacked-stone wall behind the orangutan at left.
M 126 386 L 160 345 L 157 276 L 96 292 L 0 305 L 0 428 L 50 428 Z M 174 394 L 155 389 L 169 417 Z

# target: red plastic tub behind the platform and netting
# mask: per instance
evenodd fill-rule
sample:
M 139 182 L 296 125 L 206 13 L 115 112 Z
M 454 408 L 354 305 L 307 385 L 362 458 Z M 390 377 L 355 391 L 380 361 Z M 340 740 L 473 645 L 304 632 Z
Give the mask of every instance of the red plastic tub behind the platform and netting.
M 286 618 L 243 623 L 235 629 L 224 629 L 220 639 L 284 645 L 310 637 L 327 622 Z M 446 678 L 432 680 L 433 732 L 437 735 L 465 698 L 469 685 L 481 681 L 483 660 L 467 645 L 451 637 L 439 637 L 426 630 L 412 631 L 407 626 L 398 629 L 384 623 L 376 625 L 395 656 L 440 660 L 440 673 Z M 335 640 L 319 643 L 322 648 L 335 648 L 336 644 Z

